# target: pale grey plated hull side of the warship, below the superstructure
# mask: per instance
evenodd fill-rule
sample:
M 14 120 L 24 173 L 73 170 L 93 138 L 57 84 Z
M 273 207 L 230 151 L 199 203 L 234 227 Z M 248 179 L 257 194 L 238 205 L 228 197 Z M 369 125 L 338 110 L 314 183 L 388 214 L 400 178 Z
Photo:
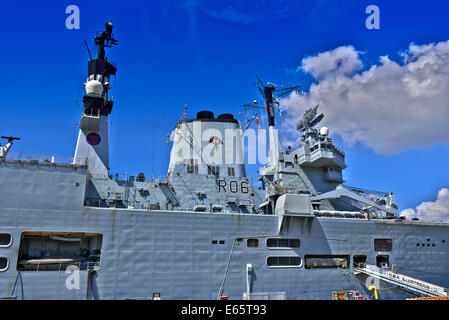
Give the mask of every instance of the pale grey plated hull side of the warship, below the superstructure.
M 11 243 L 0 247 L 0 257 L 8 261 L 0 272 L 1 297 L 126 299 L 160 293 L 163 299 L 242 299 L 249 291 L 331 299 L 336 290 L 369 294 L 366 279 L 354 275 L 354 256 L 366 257 L 368 264 L 387 257 L 403 273 L 449 287 L 447 224 L 87 207 L 80 191 L 85 175 L 82 166 L 0 162 L 0 234 L 11 235 Z M 50 270 L 20 267 L 29 233 L 101 235 L 95 272 L 81 269 L 79 285 L 70 287 L 62 264 Z M 298 239 L 299 245 L 269 246 L 268 239 L 276 238 Z M 376 251 L 375 239 L 391 239 L 392 246 Z M 306 261 L 312 256 L 338 256 L 349 263 L 314 268 Z M 299 263 L 270 266 L 270 257 L 299 257 Z M 379 292 L 381 299 L 415 296 L 385 284 Z

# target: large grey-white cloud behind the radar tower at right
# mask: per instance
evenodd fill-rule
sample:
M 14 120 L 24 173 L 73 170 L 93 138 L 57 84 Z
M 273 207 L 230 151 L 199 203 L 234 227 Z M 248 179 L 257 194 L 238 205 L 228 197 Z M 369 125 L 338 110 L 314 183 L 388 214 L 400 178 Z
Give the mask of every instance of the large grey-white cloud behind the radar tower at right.
M 292 93 L 281 101 L 286 141 L 299 137 L 296 122 L 319 104 L 322 125 L 349 145 L 360 142 L 395 154 L 449 143 L 449 41 L 411 44 L 400 63 L 383 56 L 364 67 L 360 55 L 343 46 L 302 60 L 299 69 L 316 83 L 304 95 Z

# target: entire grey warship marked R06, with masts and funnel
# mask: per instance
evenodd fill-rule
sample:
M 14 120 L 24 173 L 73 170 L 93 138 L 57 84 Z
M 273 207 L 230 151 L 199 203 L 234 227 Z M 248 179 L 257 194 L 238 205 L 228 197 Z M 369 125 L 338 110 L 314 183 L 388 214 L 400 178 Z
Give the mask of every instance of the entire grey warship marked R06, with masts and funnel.
M 95 37 L 73 159 L 26 158 L 14 137 L 1 147 L 0 298 L 333 299 L 373 297 L 370 284 L 381 299 L 423 294 L 369 270 L 447 295 L 449 224 L 403 219 L 393 193 L 344 185 L 345 153 L 315 128 L 318 106 L 284 150 L 275 108 L 287 91 L 271 83 L 258 79 L 269 135 L 259 181 L 240 122 L 212 111 L 184 110 L 165 179 L 111 175 L 112 29 Z

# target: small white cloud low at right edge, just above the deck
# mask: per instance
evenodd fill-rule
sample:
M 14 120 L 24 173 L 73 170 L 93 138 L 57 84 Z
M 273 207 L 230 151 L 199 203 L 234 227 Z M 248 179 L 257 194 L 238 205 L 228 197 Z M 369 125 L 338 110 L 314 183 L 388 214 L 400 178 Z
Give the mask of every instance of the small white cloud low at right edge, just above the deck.
M 441 189 L 435 201 L 426 201 L 415 209 L 409 208 L 401 211 L 401 216 L 406 216 L 407 219 L 418 218 L 423 221 L 449 222 L 449 189 Z

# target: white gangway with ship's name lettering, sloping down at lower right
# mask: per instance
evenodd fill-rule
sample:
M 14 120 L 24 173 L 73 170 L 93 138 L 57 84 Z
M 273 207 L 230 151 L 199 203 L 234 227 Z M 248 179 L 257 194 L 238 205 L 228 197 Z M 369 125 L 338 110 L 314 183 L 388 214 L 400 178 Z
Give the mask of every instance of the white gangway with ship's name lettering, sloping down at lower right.
M 385 282 L 396 285 L 407 291 L 412 291 L 429 297 L 449 297 L 449 289 L 437 286 L 433 283 L 396 273 L 387 268 L 379 268 L 373 265 L 361 265 L 355 268 L 354 273 L 364 273 Z

